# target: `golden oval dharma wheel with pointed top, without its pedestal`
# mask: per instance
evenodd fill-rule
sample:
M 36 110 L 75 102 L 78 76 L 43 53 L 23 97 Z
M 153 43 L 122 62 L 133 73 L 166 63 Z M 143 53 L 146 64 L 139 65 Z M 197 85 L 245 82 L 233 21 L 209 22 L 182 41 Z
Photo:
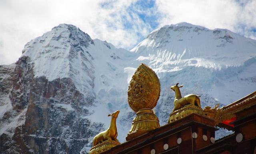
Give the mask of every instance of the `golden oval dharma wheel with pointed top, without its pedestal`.
M 140 64 L 128 87 L 128 103 L 134 112 L 143 108 L 153 109 L 160 96 L 160 82 L 156 73 Z

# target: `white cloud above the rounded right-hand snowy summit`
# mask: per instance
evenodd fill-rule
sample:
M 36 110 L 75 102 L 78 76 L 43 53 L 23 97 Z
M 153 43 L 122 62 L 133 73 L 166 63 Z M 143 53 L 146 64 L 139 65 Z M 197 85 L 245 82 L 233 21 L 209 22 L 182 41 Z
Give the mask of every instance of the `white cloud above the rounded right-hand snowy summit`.
M 226 28 L 255 38 L 255 0 L 156 0 L 160 26 L 189 22 L 206 28 Z

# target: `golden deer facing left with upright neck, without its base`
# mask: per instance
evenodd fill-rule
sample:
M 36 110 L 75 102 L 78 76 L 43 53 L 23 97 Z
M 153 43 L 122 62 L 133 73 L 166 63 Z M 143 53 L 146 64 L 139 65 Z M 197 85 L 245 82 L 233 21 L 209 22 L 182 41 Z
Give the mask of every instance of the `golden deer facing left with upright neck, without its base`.
M 197 96 L 195 94 L 188 94 L 182 97 L 180 94 L 180 88 L 183 87 L 183 85 L 178 86 L 178 84 L 179 83 L 171 86 L 171 89 L 175 92 L 173 111 L 183 108 L 185 105 L 189 104 L 201 107 L 199 99 L 200 96 Z

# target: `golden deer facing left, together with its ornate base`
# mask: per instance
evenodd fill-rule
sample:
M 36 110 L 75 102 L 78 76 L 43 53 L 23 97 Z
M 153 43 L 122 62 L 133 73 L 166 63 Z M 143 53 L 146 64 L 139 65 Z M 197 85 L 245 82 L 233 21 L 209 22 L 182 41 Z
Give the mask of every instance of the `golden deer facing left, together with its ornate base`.
M 178 84 L 179 83 L 170 87 L 175 92 L 175 98 L 173 102 L 174 108 L 172 113 L 170 114 L 170 118 L 168 119 L 168 124 L 191 113 L 204 115 L 200 104 L 200 96 L 195 94 L 188 94 L 182 97 L 180 93 L 180 88 L 183 87 L 183 85 L 178 86 Z

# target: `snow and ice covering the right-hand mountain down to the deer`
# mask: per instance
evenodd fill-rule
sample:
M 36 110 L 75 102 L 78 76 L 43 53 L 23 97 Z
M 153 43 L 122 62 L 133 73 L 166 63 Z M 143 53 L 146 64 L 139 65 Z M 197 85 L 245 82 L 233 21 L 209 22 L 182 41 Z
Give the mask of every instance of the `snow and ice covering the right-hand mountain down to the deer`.
M 136 61 L 154 68 L 164 85 L 182 82 L 224 104 L 255 90 L 256 40 L 226 29 L 185 22 L 164 26 L 131 51 L 140 55 Z

